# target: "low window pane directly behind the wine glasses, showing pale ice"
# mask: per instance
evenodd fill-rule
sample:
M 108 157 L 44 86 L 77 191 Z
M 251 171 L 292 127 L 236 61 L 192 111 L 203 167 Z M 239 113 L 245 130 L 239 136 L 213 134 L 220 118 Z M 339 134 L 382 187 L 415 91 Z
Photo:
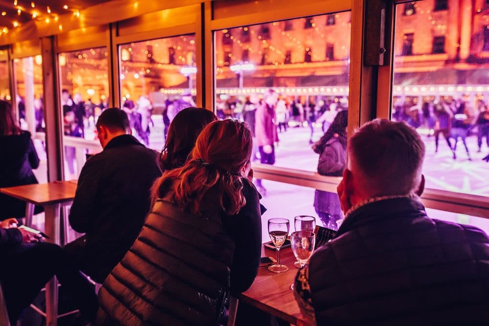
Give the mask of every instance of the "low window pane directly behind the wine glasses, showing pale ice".
M 256 180 L 254 183 L 257 185 Z M 295 231 L 294 217 L 298 215 L 316 217 L 316 225 L 337 230 L 336 221 L 343 218 L 338 195 L 270 180 L 262 180 L 262 185 L 267 189 L 260 200 L 267 208 L 262 216 L 263 242 L 270 241 L 267 221 L 273 217 L 289 218 L 290 232 Z

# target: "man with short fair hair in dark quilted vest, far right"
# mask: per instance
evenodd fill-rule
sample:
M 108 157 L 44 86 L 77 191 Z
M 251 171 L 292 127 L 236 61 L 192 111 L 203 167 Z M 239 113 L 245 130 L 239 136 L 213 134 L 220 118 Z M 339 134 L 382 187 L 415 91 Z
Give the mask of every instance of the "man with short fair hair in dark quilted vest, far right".
M 349 140 L 338 186 L 345 220 L 295 281 L 311 324 L 489 323 L 489 238 L 427 217 L 424 151 L 403 122 L 377 119 Z

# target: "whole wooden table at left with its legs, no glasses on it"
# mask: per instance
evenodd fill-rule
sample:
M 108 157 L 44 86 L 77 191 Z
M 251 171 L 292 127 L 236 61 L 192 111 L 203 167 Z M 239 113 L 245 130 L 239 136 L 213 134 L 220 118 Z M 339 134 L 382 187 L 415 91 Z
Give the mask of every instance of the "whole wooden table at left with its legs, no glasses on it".
M 76 181 L 54 181 L 43 184 L 31 184 L 10 188 L 1 188 L 5 195 L 24 200 L 26 216 L 32 215 L 34 205 L 44 207 L 44 233 L 48 241 L 61 244 L 60 209 L 62 205 L 73 202 L 76 191 Z M 67 232 L 67 230 L 65 230 Z M 53 277 L 46 284 L 46 325 L 56 326 L 58 322 L 58 281 Z

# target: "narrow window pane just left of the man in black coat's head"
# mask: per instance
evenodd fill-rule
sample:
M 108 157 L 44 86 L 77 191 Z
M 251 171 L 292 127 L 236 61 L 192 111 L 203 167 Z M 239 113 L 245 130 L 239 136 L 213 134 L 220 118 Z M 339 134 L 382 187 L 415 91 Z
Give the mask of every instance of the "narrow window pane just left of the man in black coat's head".
M 87 152 L 83 145 L 70 146 L 72 137 L 95 140 L 95 122 L 107 108 L 108 56 L 106 47 L 64 52 L 58 56 L 67 180 L 78 178 Z

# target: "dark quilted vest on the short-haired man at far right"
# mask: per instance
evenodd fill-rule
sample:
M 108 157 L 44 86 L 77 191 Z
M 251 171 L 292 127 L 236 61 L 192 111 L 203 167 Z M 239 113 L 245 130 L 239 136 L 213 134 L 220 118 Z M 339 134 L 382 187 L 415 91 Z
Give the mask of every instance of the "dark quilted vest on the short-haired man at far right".
M 317 325 L 488 325 L 489 239 L 420 201 L 354 211 L 309 265 Z

